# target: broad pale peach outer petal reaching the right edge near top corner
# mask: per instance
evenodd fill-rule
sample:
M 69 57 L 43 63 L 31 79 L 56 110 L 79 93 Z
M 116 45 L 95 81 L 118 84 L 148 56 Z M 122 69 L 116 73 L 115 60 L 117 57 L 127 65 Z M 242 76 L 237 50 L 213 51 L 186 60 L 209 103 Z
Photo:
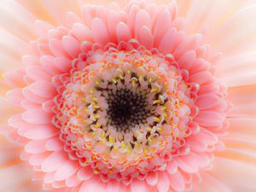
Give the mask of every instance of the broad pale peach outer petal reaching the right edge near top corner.
M 230 20 L 227 20 L 222 26 L 212 32 L 212 46 L 222 50 L 226 54 L 237 54 L 255 50 L 255 32 L 256 26 L 251 25 L 251 18 L 255 17 L 256 5 L 247 6 L 241 9 Z

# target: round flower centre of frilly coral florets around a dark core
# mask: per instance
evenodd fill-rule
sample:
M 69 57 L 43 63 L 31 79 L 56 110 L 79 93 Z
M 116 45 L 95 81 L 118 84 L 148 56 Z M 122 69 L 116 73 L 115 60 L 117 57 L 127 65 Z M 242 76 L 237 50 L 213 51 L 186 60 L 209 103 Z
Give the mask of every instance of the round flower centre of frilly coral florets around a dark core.
M 120 49 L 88 44 L 71 73 L 60 77 L 55 98 L 55 125 L 70 157 L 104 181 L 128 184 L 187 153 L 193 84 L 172 58 L 135 49 L 134 42 Z

